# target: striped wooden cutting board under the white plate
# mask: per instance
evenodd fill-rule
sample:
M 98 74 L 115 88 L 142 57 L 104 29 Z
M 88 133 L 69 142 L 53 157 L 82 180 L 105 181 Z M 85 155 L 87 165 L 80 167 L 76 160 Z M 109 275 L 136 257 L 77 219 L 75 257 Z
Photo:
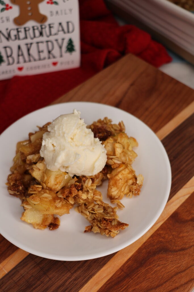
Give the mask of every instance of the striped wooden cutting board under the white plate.
M 143 237 L 117 253 L 98 259 L 49 260 L 29 254 L 0 236 L 0 291 L 191 291 L 194 287 L 194 91 L 129 54 L 54 103 L 67 101 L 112 105 L 152 128 L 171 163 L 169 200 L 160 218 Z

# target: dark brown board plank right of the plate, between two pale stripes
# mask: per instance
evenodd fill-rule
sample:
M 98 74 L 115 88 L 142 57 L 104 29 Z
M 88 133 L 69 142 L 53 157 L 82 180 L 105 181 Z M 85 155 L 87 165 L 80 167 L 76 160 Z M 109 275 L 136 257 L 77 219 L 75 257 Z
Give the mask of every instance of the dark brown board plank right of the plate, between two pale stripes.
M 194 114 L 165 137 L 162 143 L 172 170 L 171 199 L 194 175 Z

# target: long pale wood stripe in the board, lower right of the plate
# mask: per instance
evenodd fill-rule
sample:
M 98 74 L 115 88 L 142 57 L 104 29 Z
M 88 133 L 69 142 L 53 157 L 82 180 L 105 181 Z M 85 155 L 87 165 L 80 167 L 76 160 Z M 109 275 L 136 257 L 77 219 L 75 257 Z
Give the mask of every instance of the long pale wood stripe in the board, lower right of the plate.
M 83 286 L 79 292 L 96 292 L 113 274 L 142 246 L 142 244 L 167 220 L 170 215 L 191 195 L 194 191 L 194 177 L 167 202 L 162 214 L 156 223 L 137 241 L 118 251 L 93 278 Z M 100 279 L 100 281 L 99 281 Z M 108 290 L 107 290 L 108 291 Z

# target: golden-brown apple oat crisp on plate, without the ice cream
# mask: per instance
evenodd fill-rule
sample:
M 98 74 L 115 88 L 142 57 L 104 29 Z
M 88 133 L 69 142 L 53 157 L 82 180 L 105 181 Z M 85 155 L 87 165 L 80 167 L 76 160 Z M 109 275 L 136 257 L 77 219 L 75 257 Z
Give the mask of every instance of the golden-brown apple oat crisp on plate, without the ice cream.
M 139 195 L 143 184 L 143 176 L 136 175 L 131 166 L 137 156 L 133 150 L 138 146 L 136 139 L 127 136 L 122 121 L 112 124 L 105 117 L 93 122 L 88 128 L 106 148 L 106 165 L 96 175 L 71 177 L 66 172 L 47 169 L 40 156 L 42 136 L 48 131 L 49 124 L 38 127 L 37 132 L 29 133 L 28 140 L 17 143 L 7 187 L 10 195 L 22 201 L 21 219 L 38 229 L 49 227 L 55 230 L 60 220 L 54 215 L 68 214 L 75 206 L 90 224 L 84 232 L 115 237 L 119 230 L 128 226 L 118 220 L 116 211 L 124 208 L 120 200 L 124 196 Z M 117 204 L 115 207 L 104 203 L 101 192 L 96 189 L 106 179 L 107 196 L 112 204 Z

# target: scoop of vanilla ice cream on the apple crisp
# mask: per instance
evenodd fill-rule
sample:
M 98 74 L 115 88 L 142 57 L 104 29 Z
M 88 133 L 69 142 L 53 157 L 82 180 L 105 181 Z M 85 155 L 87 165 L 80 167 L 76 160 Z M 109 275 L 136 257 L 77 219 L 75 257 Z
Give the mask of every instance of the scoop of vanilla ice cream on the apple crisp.
M 106 164 L 106 149 L 90 129 L 80 112 L 56 118 L 44 133 L 40 155 L 48 169 L 73 175 L 95 175 Z

